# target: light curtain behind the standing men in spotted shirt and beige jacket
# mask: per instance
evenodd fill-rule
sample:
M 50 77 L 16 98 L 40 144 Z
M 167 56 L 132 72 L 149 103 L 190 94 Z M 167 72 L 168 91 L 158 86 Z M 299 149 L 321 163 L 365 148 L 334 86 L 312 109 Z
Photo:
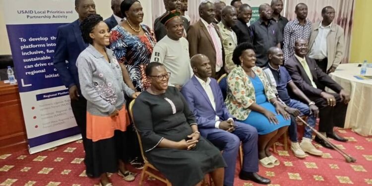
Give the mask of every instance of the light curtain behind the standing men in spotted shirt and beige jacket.
M 308 19 L 314 23 L 322 20 L 321 9 L 325 6 L 332 6 L 335 11 L 335 19 L 333 23 L 340 25 L 344 29 L 344 59 L 341 63 L 349 62 L 350 46 L 351 46 L 351 29 L 353 24 L 353 14 L 355 0 L 287 0 L 286 1 L 286 17 L 288 20 L 296 18 L 296 4 L 303 2 L 308 5 Z

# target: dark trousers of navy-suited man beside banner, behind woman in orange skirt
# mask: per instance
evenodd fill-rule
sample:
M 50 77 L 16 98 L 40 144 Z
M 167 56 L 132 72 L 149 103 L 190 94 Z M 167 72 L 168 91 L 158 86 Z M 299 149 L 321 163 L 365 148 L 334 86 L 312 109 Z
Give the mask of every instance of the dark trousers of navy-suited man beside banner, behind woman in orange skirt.
M 86 138 L 86 99 L 80 94 L 79 100 L 71 100 L 71 108 L 73 116 L 77 126 L 80 128 L 81 137 L 83 140 L 83 146 L 85 151 L 84 163 L 86 167 L 86 175 L 92 177 L 92 173 L 89 171 L 93 170 L 92 154 L 92 143 L 87 142 Z

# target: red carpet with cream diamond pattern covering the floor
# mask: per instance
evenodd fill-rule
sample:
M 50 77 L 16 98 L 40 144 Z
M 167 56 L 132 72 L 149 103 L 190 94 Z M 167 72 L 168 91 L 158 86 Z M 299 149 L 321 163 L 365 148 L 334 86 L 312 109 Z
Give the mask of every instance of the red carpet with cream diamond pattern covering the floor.
M 269 186 L 367 186 L 372 185 L 372 137 L 360 136 L 351 130 L 339 129 L 349 139 L 347 143 L 335 142 L 357 159 L 346 163 L 334 150 L 320 147 L 323 157 L 308 156 L 304 160 L 284 151 L 280 144 L 274 154 L 281 164 L 272 169 L 260 166 L 259 174 L 272 180 Z M 236 173 L 239 173 L 237 166 Z M 130 168 L 140 174 L 140 171 Z M 136 180 L 127 183 L 113 174 L 114 185 L 137 186 Z M 47 151 L 29 155 L 27 151 L 0 155 L 0 186 L 94 186 L 97 179 L 89 179 L 84 173 L 83 148 L 76 141 Z M 164 186 L 147 178 L 145 186 Z M 255 183 L 235 179 L 236 186 L 258 186 Z

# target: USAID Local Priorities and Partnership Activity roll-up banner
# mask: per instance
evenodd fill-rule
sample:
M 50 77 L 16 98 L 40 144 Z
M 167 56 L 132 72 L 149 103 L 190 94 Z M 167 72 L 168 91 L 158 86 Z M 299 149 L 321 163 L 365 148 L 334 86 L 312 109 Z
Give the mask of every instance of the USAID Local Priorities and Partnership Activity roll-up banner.
M 74 0 L 1 0 L 30 154 L 81 138 L 68 90 L 53 66 L 57 28 L 77 19 Z

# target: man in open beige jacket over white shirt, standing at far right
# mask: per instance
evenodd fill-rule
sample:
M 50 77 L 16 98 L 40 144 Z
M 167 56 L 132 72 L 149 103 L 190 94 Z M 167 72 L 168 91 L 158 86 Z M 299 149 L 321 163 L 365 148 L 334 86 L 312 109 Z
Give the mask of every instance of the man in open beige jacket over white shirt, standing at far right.
M 308 55 L 323 72 L 331 73 L 344 57 L 344 29 L 332 23 L 335 17 L 332 6 L 325 6 L 321 16 L 322 21 L 312 24 Z

